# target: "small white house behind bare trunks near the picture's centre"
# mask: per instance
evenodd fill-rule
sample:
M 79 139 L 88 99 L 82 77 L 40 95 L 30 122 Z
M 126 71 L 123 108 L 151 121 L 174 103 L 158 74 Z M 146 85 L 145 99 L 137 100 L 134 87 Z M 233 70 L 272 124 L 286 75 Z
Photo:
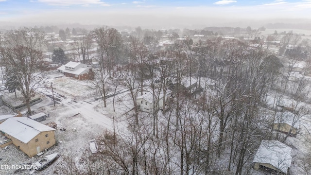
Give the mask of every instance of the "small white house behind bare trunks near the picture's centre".
M 150 92 L 151 91 L 151 92 Z M 138 96 L 136 103 L 139 106 L 139 109 L 144 112 L 153 112 L 153 107 L 154 107 L 154 98 L 153 98 L 153 92 L 152 90 L 144 92 L 143 95 Z M 157 92 L 157 89 L 155 89 L 155 92 Z M 167 90 L 166 95 L 165 95 L 165 101 L 169 99 L 171 96 L 172 91 Z M 163 90 L 161 90 L 159 94 L 159 108 L 163 107 Z

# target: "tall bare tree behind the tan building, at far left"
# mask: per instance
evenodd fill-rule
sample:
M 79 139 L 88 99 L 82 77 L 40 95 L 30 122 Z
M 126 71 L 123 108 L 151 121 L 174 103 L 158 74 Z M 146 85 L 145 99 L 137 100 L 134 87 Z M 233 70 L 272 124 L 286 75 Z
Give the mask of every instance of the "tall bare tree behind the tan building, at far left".
M 28 113 L 31 113 L 30 100 L 35 89 L 43 80 L 38 69 L 43 58 L 41 51 L 42 33 L 33 28 L 22 28 L 6 33 L 6 46 L 1 49 L 2 64 L 16 72 L 18 88 L 24 96 Z

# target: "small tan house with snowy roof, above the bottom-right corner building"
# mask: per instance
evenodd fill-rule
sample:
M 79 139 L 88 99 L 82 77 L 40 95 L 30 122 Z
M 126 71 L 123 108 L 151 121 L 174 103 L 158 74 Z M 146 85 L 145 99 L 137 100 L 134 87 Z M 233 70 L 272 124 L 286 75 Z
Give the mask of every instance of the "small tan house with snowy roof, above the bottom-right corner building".
M 299 126 L 297 117 L 292 112 L 278 112 L 276 113 L 273 129 L 284 133 L 296 134 Z

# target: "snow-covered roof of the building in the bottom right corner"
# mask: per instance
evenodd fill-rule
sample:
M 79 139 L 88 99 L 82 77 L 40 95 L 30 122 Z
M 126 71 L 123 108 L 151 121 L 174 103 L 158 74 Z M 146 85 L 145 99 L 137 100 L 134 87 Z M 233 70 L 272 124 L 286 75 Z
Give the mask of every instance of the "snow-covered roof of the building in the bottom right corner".
M 291 152 L 291 147 L 278 140 L 262 140 L 253 162 L 271 164 L 287 174 L 292 163 Z

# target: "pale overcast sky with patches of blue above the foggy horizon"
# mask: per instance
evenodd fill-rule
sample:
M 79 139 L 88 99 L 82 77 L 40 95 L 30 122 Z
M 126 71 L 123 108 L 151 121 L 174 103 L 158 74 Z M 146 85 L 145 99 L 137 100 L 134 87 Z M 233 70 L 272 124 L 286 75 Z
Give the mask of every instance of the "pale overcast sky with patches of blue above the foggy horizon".
M 298 18 L 311 20 L 311 0 L 0 0 L 2 24 L 177 27 L 245 21 L 247 26 L 252 21 Z

